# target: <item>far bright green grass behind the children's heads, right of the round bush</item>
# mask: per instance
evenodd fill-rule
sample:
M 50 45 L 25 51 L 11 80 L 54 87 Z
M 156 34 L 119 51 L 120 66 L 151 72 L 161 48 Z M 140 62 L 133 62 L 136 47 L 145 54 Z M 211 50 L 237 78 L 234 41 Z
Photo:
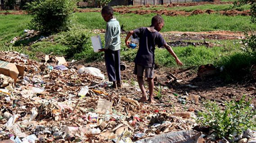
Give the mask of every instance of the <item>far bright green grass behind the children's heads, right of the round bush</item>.
M 105 29 L 106 22 L 103 21 L 100 13 L 76 13 L 77 23 L 84 25 L 88 29 Z M 124 29 L 131 30 L 142 26 L 149 26 L 154 14 L 136 15 L 136 14 L 118 14 L 115 17 L 124 25 Z M 212 31 L 212 30 L 256 30 L 256 25 L 250 23 L 250 17 L 236 16 L 229 17 L 219 14 L 200 14 L 189 17 L 162 16 L 165 20 L 165 26 L 161 32 L 166 31 Z

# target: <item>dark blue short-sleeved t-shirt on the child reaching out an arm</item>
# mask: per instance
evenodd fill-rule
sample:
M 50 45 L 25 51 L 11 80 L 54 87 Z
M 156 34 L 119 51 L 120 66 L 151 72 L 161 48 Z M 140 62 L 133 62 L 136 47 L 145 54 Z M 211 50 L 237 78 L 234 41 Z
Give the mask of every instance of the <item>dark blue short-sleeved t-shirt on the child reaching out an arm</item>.
M 148 28 L 141 27 L 133 30 L 133 38 L 139 38 L 139 50 L 134 62 L 144 67 L 154 67 L 155 46 L 162 47 L 166 41 L 159 32 L 150 32 Z

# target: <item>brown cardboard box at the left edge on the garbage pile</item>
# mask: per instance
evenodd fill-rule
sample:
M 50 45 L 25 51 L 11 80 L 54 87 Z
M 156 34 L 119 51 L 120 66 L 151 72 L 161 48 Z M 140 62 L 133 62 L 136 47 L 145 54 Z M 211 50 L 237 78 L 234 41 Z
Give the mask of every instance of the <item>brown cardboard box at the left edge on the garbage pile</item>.
M 0 60 L 0 73 L 5 76 L 10 76 L 11 78 L 13 78 L 15 83 L 18 79 L 18 76 L 24 75 L 24 70 L 25 67 Z

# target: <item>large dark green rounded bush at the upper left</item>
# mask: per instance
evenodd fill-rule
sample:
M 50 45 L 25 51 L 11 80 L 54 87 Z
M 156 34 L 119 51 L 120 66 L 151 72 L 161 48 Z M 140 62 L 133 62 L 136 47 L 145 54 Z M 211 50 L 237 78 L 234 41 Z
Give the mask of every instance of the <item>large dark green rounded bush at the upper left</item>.
M 68 29 L 69 18 L 75 8 L 74 0 L 39 0 L 28 4 L 27 12 L 33 16 L 31 28 L 45 34 Z

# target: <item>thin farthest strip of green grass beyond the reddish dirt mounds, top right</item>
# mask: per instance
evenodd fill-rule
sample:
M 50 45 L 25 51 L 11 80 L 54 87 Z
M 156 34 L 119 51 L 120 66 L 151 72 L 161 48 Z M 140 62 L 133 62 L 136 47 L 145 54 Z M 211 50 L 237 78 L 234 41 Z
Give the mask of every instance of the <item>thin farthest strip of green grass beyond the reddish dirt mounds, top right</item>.
M 207 10 L 211 9 L 214 11 L 221 11 L 221 10 L 239 10 L 239 11 L 244 11 L 244 10 L 249 10 L 250 5 L 246 4 L 241 7 L 233 8 L 233 4 L 202 4 L 202 5 L 196 5 L 196 6 L 187 6 L 187 7 L 171 7 L 171 8 L 165 8 L 162 6 L 157 6 L 157 7 L 142 7 L 142 8 L 132 8 L 130 10 L 177 10 L 177 11 L 186 11 L 186 12 L 192 12 L 194 10 L 200 9 L 200 10 Z

